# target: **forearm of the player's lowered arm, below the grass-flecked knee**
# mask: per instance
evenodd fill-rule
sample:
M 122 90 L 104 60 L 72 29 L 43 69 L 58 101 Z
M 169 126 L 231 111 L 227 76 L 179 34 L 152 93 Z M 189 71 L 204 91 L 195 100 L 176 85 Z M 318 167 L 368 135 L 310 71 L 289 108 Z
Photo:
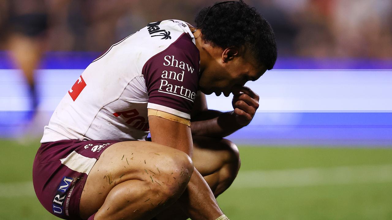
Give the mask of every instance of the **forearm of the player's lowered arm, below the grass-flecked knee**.
M 223 215 L 210 187 L 196 168 L 179 202 L 192 220 L 215 220 Z

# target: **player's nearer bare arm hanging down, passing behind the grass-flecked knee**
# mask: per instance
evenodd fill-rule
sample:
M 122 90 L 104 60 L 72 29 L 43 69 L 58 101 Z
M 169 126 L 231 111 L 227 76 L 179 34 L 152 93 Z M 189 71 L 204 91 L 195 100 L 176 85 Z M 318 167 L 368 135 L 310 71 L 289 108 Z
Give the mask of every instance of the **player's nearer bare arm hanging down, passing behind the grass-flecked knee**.
M 187 125 L 153 115 L 149 116 L 149 124 L 152 142 L 184 151 L 192 157 L 192 135 Z M 196 168 L 179 200 L 185 213 L 193 220 L 214 220 L 223 215 L 207 182 Z

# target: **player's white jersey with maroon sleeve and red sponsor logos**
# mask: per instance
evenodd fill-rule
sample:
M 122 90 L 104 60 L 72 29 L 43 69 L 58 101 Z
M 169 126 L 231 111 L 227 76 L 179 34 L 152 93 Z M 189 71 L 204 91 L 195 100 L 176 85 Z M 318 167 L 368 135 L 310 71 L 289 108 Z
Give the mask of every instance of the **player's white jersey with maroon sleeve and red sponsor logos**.
M 83 71 L 45 126 L 41 142 L 144 140 L 147 108 L 191 118 L 199 70 L 199 50 L 187 23 L 149 23 Z

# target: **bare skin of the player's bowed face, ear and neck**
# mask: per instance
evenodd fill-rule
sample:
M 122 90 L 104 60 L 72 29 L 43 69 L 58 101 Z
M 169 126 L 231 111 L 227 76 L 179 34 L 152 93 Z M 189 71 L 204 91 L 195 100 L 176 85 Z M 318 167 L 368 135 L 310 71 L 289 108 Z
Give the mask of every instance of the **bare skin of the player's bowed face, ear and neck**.
M 191 30 L 200 51 L 199 88 L 204 94 L 229 96 L 236 92 L 236 88 L 243 87 L 247 81 L 257 80 L 267 71 L 245 47 L 222 49 L 204 41 L 200 30 L 192 27 Z

